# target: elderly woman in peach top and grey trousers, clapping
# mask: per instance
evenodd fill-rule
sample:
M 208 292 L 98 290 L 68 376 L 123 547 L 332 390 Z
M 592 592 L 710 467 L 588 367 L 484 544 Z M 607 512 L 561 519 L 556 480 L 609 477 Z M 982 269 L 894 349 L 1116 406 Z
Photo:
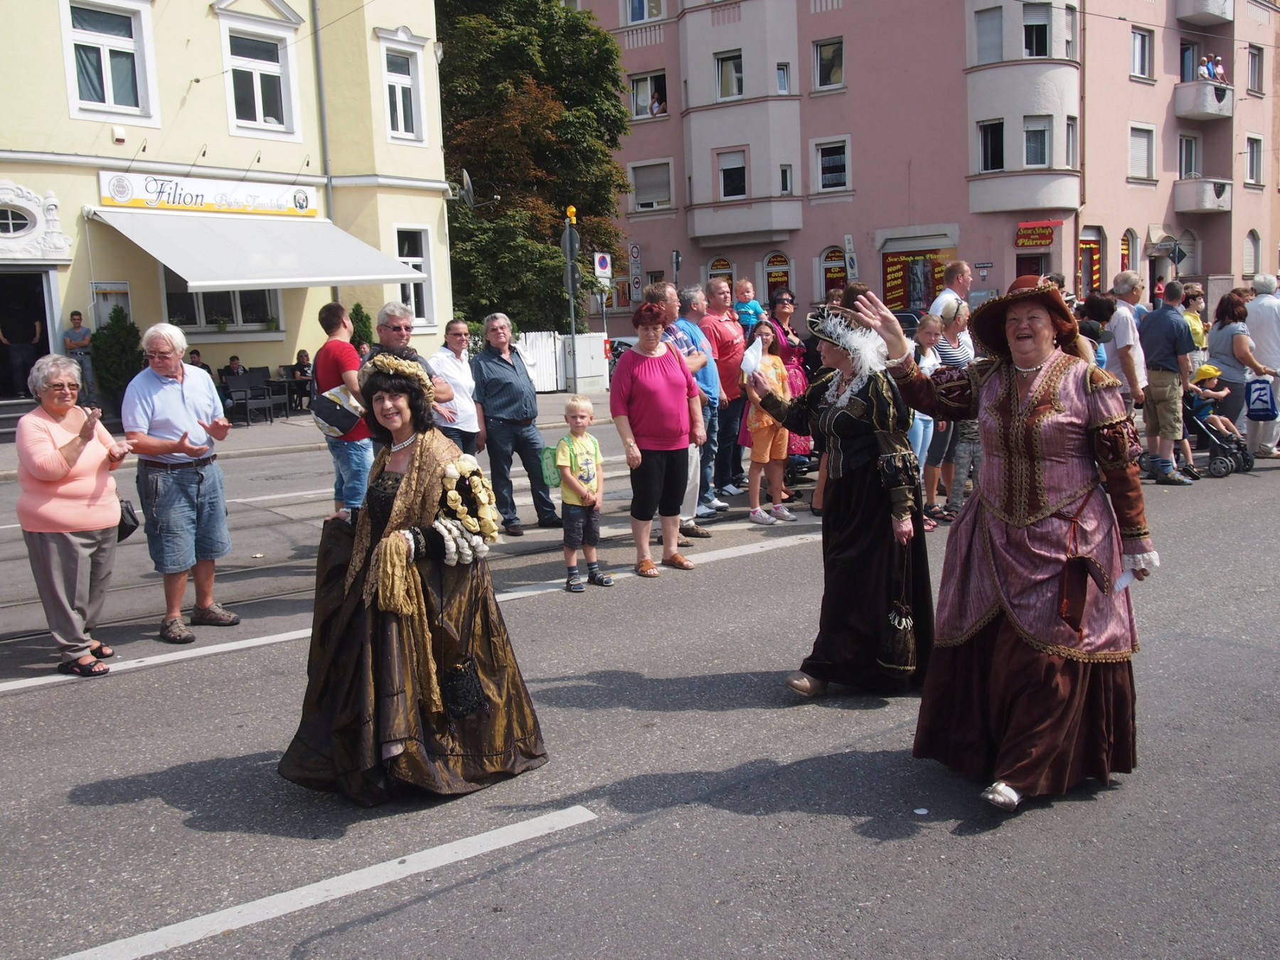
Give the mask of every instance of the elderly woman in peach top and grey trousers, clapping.
M 27 378 L 40 406 L 18 421 L 18 521 L 31 572 L 58 641 L 59 673 L 100 677 L 115 650 L 92 637 L 115 559 L 120 500 L 111 471 L 129 453 L 101 411 L 76 404 L 81 367 L 41 357 Z

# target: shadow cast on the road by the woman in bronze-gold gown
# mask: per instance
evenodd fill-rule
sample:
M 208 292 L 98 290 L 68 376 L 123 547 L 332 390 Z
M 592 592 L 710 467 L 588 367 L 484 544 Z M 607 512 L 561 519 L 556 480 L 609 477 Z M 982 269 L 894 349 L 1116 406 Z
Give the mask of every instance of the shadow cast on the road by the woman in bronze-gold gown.
M 68 800 L 77 806 L 118 806 L 156 799 L 186 812 L 183 826 L 206 833 L 338 840 L 356 823 L 430 809 L 452 799 L 406 791 L 390 803 L 365 809 L 338 794 L 289 783 L 275 772 L 279 762 L 278 750 L 215 756 L 84 783 L 74 787 Z

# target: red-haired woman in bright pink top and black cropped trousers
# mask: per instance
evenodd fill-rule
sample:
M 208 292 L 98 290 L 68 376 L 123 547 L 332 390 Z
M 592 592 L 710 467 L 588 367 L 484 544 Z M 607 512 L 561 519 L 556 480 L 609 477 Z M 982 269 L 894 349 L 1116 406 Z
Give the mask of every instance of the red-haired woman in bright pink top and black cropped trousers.
M 649 553 L 654 511 L 662 518 L 662 564 L 692 570 L 676 552 L 680 503 L 689 480 L 689 443 L 707 442 L 703 404 L 685 358 L 662 342 L 664 311 L 643 303 L 631 317 L 640 340 L 618 360 L 609 385 L 609 412 L 631 468 L 631 535 L 636 573 L 658 576 Z

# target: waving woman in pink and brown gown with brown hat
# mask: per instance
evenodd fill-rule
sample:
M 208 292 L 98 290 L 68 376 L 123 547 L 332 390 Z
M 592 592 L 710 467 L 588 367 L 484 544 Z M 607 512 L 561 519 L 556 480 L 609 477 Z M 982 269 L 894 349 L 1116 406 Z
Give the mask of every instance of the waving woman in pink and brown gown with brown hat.
M 1006 810 L 1129 773 L 1138 635 L 1126 585 L 1160 561 L 1119 381 L 1036 276 L 974 311 L 988 358 L 932 379 L 883 303 L 868 294 L 856 312 L 884 339 L 908 403 L 977 417 L 982 433 L 978 495 L 947 541 L 915 755 L 991 782 L 983 799 Z

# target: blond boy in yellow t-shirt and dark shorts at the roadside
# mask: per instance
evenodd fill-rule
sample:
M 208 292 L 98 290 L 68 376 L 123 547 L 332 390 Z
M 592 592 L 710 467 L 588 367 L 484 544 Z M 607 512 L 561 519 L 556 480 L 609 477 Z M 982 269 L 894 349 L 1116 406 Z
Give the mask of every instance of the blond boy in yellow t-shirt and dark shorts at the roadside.
M 564 521 L 564 589 L 580 594 L 586 588 L 577 570 L 577 549 L 586 559 L 586 582 L 613 586 L 613 577 L 600 572 L 595 548 L 600 543 L 600 444 L 586 431 L 595 422 L 591 401 L 573 396 L 564 404 L 568 436 L 556 444 L 556 466 L 561 471 L 561 520 Z

